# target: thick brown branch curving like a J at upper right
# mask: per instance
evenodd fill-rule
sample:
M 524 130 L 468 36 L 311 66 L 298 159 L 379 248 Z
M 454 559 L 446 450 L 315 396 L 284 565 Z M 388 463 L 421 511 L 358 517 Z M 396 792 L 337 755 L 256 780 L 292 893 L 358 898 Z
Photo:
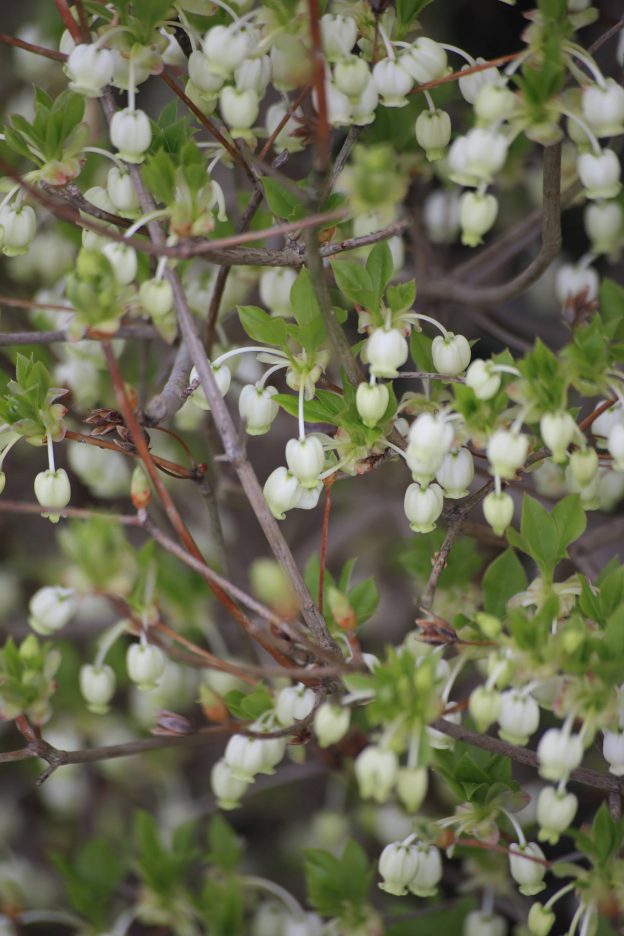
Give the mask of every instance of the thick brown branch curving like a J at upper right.
M 513 299 L 548 269 L 561 250 L 561 144 L 544 149 L 542 245 L 537 256 L 513 279 L 498 286 L 473 286 L 456 277 L 422 285 L 425 299 L 449 300 L 464 305 L 495 305 Z

